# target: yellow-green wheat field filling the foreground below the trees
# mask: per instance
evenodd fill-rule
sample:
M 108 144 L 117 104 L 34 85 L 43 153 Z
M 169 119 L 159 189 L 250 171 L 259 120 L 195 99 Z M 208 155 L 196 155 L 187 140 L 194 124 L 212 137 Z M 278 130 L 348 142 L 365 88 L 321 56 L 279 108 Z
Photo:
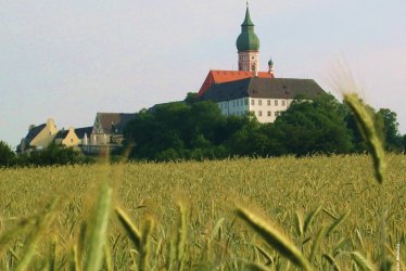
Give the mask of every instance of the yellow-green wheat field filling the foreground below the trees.
M 0 270 L 375 270 L 382 247 L 404 270 L 386 164 L 384 185 L 367 155 L 0 169 Z

